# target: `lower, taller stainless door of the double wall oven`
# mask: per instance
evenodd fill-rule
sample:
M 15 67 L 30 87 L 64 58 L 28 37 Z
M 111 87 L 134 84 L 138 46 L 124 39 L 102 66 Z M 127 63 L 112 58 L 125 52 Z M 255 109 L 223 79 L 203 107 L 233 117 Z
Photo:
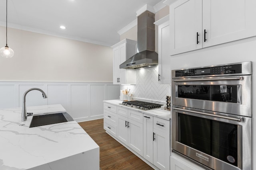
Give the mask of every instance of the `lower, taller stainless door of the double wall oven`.
M 214 170 L 251 170 L 251 119 L 172 106 L 172 152 Z

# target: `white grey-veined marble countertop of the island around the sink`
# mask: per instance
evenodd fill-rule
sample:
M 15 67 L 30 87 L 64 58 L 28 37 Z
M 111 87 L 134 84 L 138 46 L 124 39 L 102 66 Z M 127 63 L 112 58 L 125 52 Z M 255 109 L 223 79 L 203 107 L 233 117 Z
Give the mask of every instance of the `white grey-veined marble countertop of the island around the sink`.
M 89 150 L 99 150 L 76 121 L 29 128 L 32 116 L 22 122 L 21 110 L 0 109 L 0 170 L 33 169 Z M 57 104 L 27 107 L 27 111 L 37 115 L 66 110 Z

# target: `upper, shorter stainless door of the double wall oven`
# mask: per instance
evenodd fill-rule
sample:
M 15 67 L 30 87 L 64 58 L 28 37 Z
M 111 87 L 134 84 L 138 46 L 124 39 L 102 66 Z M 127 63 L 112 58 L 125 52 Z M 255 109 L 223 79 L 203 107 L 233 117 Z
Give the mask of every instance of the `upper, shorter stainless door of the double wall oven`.
M 252 117 L 251 76 L 172 79 L 172 105 Z

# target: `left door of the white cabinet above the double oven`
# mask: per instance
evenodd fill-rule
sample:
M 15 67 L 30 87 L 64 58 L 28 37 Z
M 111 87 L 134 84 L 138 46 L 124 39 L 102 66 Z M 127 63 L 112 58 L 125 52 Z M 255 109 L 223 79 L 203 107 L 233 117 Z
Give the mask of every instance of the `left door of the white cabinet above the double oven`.
M 202 0 L 170 5 L 170 25 L 170 55 L 202 48 Z

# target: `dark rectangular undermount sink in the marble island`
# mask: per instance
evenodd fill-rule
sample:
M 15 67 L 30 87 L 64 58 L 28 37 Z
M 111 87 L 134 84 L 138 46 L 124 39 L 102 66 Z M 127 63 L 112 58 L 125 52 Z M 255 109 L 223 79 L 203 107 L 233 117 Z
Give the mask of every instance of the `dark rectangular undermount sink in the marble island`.
M 55 124 L 55 123 L 62 123 L 62 122 L 73 121 L 73 120 L 74 119 L 66 112 L 54 113 L 54 114 L 33 115 L 29 127 L 51 125 L 51 124 Z

